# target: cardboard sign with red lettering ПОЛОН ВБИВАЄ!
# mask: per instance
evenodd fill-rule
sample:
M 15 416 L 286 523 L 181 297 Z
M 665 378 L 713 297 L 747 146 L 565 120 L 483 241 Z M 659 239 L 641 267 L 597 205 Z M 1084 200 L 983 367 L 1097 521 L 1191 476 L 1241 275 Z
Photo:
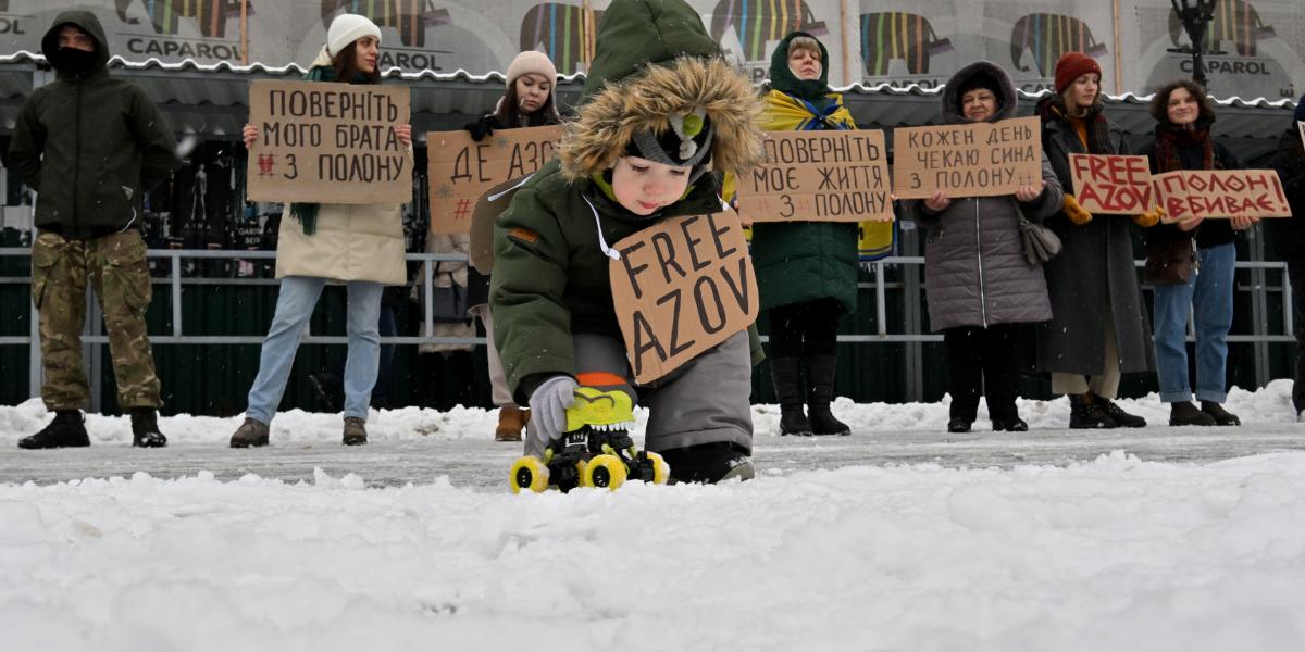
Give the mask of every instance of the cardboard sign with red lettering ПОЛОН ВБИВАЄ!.
M 1283 183 L 1272 170 L 1178 170 L 1154 180 L 1164 222 L 1292 215 Z

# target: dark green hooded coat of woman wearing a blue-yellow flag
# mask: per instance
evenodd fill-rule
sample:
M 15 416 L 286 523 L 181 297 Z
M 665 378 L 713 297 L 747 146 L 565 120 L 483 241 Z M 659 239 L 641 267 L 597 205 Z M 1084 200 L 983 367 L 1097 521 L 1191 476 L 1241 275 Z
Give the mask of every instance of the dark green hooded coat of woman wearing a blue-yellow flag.
M 788 42 L 799 34 L 786 37 L 775 47 L 770 63 L 770 78 L 775 90 L 795 96 L 806 95 L 816 102 L 829 93 L 825 81 L 827 67 L 821 69 L 820 81 L 801 82 L 788 70 Z M 820 40 L 817 40 L 820 43 Z M 821 60 L 829 61 L 829 51 L 821 43 Z M 814 89 L 814 91 L 813 91 Z M 813 129 L 823 129 L 820 120 Z M 856 310 L 856 228 L 855 222 L 763 222 L 752 227 L 752 266 L 757 271 L 757 291 L 761 309 L 801 304 L 817 299 L 834 299 L 844 312 Z

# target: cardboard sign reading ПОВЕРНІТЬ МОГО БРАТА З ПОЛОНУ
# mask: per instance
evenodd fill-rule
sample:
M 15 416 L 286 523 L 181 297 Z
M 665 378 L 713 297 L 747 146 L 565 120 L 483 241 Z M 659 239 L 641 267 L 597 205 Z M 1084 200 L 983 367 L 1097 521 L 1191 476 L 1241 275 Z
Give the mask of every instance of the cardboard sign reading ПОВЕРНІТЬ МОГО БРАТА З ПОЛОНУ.
M 249 85 L 248 197 L 253 201 L 412 201 L 408 89 L 257 80 Z

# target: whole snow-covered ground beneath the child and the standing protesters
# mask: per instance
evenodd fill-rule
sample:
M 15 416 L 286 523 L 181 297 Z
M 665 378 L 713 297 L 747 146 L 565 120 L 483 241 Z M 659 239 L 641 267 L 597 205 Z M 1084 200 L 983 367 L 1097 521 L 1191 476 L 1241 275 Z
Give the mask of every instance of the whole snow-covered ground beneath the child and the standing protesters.
M 1305 425 L 1282 381 L 1228 407 L 955 437 L 945 403 L 840 400 L 852 437 L 792 439 L 758 406 L 756 481 L 566 496 L 512 496 L 474 408 L 363 449 L 288 412 L 256 451 L 189 416 L 20 451 L 48 416 L 0 407 L 0 651 L 1305 649 Z

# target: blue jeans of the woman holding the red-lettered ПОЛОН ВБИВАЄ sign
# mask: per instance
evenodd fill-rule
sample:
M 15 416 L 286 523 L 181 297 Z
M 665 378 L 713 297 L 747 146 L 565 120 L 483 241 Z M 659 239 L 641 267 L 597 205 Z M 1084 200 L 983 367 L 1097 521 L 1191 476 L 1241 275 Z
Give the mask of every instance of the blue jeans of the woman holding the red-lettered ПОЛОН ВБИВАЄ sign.
M 1197 331 L 1197 399 L 1228 399 L 1228 330 L 1232 329 L 1237 248 L 1232 243 L 1197 249 L 1199 269 L 1184 284 L 1155 287 L 1155 359 L 1160 400 L 1191 400 L 1188 382 L 1188 309 Z

